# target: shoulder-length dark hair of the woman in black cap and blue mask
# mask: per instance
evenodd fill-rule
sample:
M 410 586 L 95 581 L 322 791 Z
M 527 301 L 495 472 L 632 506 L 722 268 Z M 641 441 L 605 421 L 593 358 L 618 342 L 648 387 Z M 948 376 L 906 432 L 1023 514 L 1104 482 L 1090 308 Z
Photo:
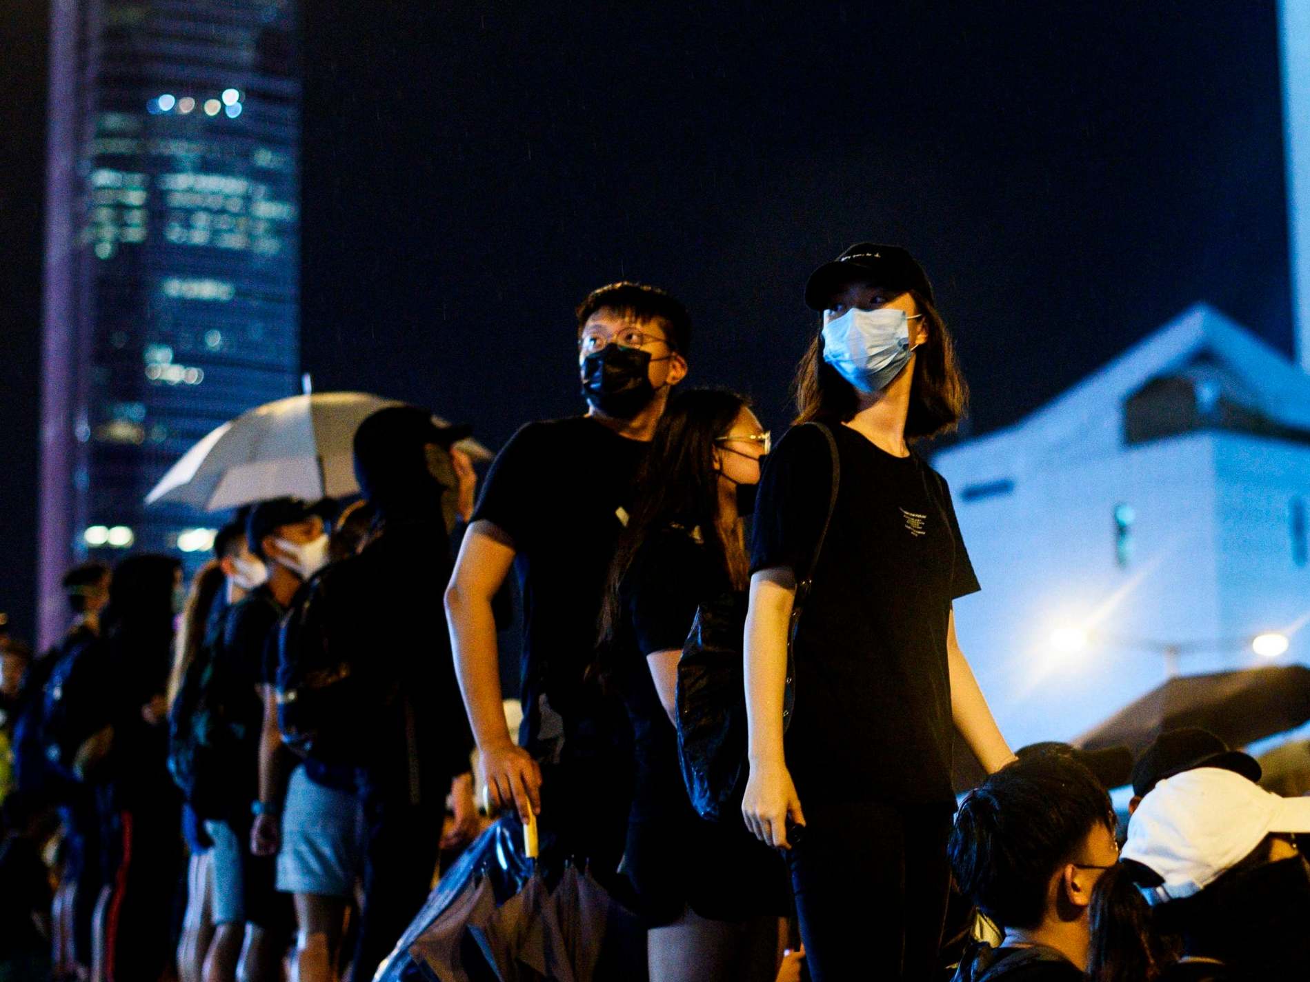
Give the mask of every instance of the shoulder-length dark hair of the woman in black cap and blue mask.
M 905 418 L 905 439 L 920 440 L 955 429 L 969 405 L 969 386 L 955 357 L 955 340 L 937 308 L 918 291 L 909 291 L 924 314 L 927 340 L 914 352 L 914 382 Z M 795 423 L 845 423 L 855 415 L 859 397 L 837 369 L 823 360 L 823 334 L 816 333 L 791 381 Z

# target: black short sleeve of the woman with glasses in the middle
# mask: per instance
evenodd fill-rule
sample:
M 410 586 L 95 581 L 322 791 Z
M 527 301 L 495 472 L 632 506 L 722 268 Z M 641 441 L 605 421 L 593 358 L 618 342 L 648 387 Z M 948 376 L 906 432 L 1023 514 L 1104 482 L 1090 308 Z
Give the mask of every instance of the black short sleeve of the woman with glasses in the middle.
M 648 539 L 634 558 L 622 598 L 643 656 L 686 643 L 701 602 L 702 550 L 686 533 L 673 530 Z

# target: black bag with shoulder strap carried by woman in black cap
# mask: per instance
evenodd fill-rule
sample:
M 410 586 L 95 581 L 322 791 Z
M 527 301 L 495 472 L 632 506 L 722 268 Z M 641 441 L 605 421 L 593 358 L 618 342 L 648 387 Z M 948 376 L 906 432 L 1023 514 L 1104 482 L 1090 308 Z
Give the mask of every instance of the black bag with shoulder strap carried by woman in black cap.
M 828 525 L 837 505 L 841 483 L 841 461 L 837 441 L 823 423 L 815 426 L 828 440 L 832 453 L 832 492 L 828 515 L 815 545 L 810 568 L 796 584 L 787 627 L 787 676 L 782 702 L 783 732 L 791 723 L 795 704 L 794 642 L 814 584 L 815 567 L 823 553 Z M 799 571 L 798 571 L 799 572 Z M 692 622 L 692 632 L 677 660 L 677 755 L 692 807 L 701 818 L 740 821 L 741 796 L 749 776 L 747 765 L 745 678 L 741 639 L 745 635 L 745 597 L 724 594 L 701 604 Z

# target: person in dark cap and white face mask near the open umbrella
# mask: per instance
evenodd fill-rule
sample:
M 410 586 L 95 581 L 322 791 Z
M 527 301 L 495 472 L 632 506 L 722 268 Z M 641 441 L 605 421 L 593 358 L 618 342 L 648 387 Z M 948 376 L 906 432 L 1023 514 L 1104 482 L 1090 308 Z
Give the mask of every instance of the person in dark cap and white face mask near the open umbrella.
M 244 720 L 248 735 L 246 780 L 232 788 L 232 810 L 206 821 L 214 839 L 214 922 L 210 979 L 244 982 L 278 978 L 291 927 L 287 897 L 275 889 L 278 812 L 280 788 L 263 787 L 272 771 L 269 758 L 288 752 L 266 733 L 271 700 L 271 665 L 276 651 L 278 621 L 301 583 L 326 559 L 328 536 L 322 517 L 305 501 L 276 498 L 261 501 L 246 518 L 246 546 L 265 566 L 266 579 L 229 609 L 216 659 L 233 680 L 233 719 Z M 233 556 L 244 559 L 244 556 Z M 250 562 L 250 560 L 245 560 Z M 233 566 L 237 572 L 237 567 Z M 261 577 L 254 576 L 246 581 Z M 233 584 L 236 585 L 236 584 Z M 234 936 L 241 936 L 240 955 Z

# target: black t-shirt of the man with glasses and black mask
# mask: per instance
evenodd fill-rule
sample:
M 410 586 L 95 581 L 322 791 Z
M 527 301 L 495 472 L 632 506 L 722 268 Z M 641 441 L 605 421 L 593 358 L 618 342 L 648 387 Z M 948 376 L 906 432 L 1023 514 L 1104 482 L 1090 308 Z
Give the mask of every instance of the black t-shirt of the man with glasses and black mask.
M 614 746 L 613 707 L 583 678 L 646 449 L 586 416 L 528 423 L 496 456 L 482 488 L 473 520 L 514 539 L 524 621 L 520 742 L 537 759 L 605 755 Z

